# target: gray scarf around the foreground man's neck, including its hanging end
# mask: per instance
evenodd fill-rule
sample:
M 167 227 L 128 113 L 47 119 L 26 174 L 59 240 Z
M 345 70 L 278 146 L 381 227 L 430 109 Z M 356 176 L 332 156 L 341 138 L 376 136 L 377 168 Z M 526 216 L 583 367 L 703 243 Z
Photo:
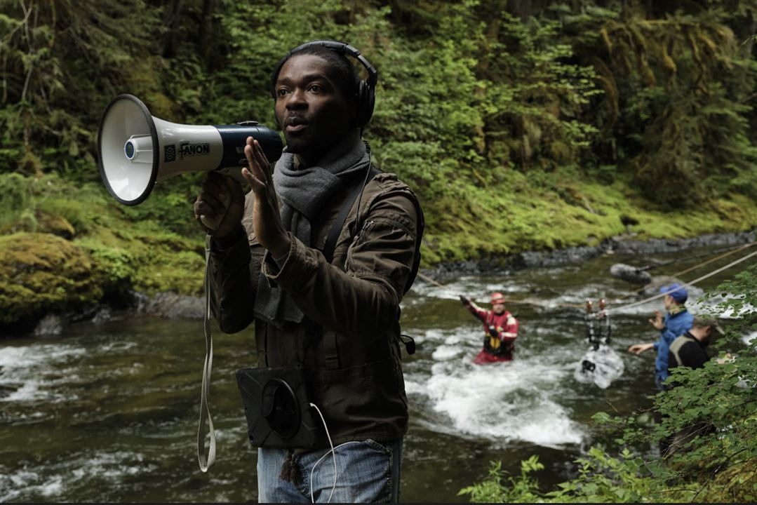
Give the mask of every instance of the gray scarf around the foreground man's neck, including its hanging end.
M 368 167 L 369 156 L 357 130 L 344 138 L 315 167 L 298 168 L 294 154 L 285 148 L 276 162 L 273 184 L 282 201 L 282 224 L 304 245 L 311 247 L 310 223 L 329 200 L 345 186 L 357 182 Z M 266 257 L 269 253 L 266 251 Z M 267 259 L 267 258 L 266 258 Z M 260 275 L 255 316 L 274 326 L 301 323 L 304 314 L 288 293 Z

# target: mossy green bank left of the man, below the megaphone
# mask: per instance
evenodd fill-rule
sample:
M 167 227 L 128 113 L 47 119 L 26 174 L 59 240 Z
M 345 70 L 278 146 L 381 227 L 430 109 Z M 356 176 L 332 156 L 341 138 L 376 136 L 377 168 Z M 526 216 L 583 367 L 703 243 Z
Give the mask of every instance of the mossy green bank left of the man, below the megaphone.
M 127 289 L 200 294 L 201 232 L 185 237 L 147 217 L 168 204 L 147 206 L 132 222 L 114 211 L 102 185 L 75 185 L 55 174 L 0 173 L 0 192 L 0 326 Z M 191 203 L 174 205 L 191 212 Z

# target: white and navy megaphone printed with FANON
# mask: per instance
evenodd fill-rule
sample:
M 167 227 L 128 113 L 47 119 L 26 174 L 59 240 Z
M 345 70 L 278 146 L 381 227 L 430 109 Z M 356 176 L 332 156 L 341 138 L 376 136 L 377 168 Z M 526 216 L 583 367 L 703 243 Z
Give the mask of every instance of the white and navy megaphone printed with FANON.
M 155 182 L 185 172 L 220 171 L 241 178 L 247 165 L 245 144 L 254 137 L 268 161 L 279 159 L 282 139 L 255 121 L 235 125 L 194 126 L 153 117 L 134 95 L 118 95 L 107 104 L 97 151 L 100 175 L 108 192 L 125 205 L 145 201 Z

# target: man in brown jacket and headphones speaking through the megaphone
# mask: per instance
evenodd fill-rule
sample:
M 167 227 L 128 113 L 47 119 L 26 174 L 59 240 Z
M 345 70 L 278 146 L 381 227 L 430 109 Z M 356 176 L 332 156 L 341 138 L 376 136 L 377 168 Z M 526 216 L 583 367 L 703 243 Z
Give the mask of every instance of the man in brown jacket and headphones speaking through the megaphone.
M 241 172 L 252 191 L 210 174 L 195 202 L 198 222 L 220 221 L 206 229 L 213 316 L 229 333 L 254 323 L 261 369 L 304 370 L 319 425 L 313 447 L 258 448 L 260 502 L 398 500 L 408 422 L 399 307 L 423 217 L 396 175 L 369 174 L 360 137 L 377 76 L 350 45 L 294 48 L 272 76 L 287 145 L 275 171 L 249 138 Z

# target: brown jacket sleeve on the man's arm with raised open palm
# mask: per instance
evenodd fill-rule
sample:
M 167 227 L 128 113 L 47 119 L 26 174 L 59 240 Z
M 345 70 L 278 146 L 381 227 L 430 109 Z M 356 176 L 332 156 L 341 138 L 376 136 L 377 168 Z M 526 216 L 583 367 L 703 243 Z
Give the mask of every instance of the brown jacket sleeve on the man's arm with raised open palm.
M 346 335 L 375 337 L 397 323 L 399 304 L 416 252 L 416 204 L 409 192 L 388 192 L 361 217 L 362 229 L 347 251 L 347 271 L 289 235 L 280 267 L 263 264 L 314 322 Z

